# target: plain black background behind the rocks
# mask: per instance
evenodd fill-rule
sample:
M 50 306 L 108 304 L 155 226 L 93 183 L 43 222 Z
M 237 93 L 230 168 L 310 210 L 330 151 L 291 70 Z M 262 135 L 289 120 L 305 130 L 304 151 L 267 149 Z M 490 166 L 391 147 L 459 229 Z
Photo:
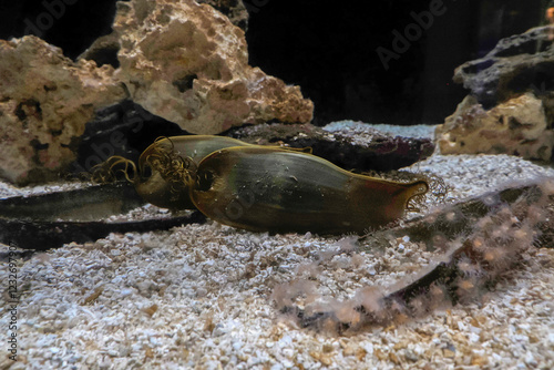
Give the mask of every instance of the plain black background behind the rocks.
M 68 0 L 72 4 L 51 27 L 29 27 L 57 1 L 1 0 L 0 38 L 40 33 L 75 58 L 111 32 L 114 0 Z M 444 0 L 445 13 L 388 71 L 376 49 L 392 50 L 392 31 L 403 33 L 414 22 L 410 13 L 428 10 L 431 0 L 244 2 L 250 64 L 299 84 L 315 102 L 316 124 L 348 119 L 410 125 L 443 122 L 468 93 L 452 83 L 454 68 L 484 55 L 501 38 L 543 23 L 547 1 Z

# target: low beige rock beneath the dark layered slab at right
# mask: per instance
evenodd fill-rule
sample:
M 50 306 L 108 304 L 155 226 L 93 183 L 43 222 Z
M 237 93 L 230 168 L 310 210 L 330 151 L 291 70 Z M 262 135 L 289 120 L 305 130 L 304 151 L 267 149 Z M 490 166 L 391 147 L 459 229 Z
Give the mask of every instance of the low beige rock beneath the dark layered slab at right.
M 543 102 L 533 93 L 489 111 L 466 96 L 437 127 L 435 137 L 442 154 L 512 154 L 542 161 L 551 160 L 554 144 Z

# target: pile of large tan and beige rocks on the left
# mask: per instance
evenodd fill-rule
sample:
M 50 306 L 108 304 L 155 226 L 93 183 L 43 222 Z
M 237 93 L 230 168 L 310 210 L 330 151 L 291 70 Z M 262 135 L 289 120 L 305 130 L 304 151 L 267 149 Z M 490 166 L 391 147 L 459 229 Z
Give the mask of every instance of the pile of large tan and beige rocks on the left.
M 244 10 L 240 1 L 211 3 Z M 0 40 L 0 177 L 20 185 L 57 178 L 95 111 L 123 99 L 197 134 L 311 121 L 311 101 L 249 66 L 244 31 L 208 4 L 121 1 L 113 29 L 91 49 L 99 64 L 72 62 L 34 37 Z

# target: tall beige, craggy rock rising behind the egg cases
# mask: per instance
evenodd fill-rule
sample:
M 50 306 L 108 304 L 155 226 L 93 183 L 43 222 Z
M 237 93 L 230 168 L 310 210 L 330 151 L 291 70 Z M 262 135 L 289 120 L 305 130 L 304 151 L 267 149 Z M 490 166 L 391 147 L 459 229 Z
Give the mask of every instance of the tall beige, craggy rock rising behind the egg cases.
M 248 65 L 243 30 L 193 0 L 119 2 L 117 76 L 144 109 L 196 134 L 245 123 L 305 123 L 314 104 L 298 86 Z

